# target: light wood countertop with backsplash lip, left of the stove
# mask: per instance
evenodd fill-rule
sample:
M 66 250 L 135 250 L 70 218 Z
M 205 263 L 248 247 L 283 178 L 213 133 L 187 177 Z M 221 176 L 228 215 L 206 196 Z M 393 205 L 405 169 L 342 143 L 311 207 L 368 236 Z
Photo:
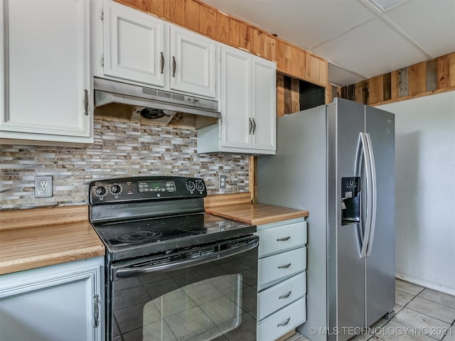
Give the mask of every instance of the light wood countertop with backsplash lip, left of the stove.
M 104 255 L 87 205 L 0 212 L 0 274 Z

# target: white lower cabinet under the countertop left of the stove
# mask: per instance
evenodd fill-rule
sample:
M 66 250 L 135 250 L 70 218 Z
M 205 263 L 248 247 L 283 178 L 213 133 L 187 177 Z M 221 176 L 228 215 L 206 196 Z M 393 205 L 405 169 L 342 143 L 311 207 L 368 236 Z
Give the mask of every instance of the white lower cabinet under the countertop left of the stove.
M 0 340 L 104 340 L 104 258 L 0 276 Z

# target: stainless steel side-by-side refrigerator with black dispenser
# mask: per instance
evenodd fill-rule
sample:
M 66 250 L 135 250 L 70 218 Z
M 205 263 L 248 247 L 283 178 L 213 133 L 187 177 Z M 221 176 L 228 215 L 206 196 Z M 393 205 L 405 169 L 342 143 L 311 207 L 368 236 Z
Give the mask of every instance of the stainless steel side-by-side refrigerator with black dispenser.
M 277 119 L 258 201 L 309 210 L 311 340 L 348 340 L 395 305 L 395 115 L 336 98 Z

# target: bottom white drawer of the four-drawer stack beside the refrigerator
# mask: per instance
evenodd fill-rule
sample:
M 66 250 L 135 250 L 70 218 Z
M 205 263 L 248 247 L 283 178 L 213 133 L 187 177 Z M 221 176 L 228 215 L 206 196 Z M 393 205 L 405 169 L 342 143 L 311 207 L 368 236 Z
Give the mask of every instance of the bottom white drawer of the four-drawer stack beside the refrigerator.
M 306 321 L 306 300 L 304 297 L 277 313 L 264 318 L 257 324 L 257 340 L 272 341 L 286 334 Z

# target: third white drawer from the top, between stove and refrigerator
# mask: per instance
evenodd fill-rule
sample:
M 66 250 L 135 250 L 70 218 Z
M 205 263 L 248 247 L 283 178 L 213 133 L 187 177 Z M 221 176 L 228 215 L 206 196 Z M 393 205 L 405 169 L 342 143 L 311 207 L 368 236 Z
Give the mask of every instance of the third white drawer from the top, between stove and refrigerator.
M 257 319 L 262 320 L 275 311 L 305 296 L 306 273 L 302 272 L 257 295 Z

